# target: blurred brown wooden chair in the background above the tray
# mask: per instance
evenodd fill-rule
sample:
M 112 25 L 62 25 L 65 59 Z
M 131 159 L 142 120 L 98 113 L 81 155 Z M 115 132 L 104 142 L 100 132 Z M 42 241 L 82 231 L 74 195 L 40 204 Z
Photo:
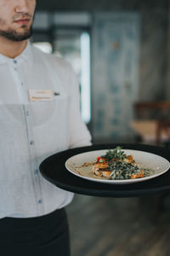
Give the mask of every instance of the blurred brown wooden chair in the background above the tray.
M 170 101 L 136 102 L 133 129 L 141 143 L 161 145 L 169 141 Z

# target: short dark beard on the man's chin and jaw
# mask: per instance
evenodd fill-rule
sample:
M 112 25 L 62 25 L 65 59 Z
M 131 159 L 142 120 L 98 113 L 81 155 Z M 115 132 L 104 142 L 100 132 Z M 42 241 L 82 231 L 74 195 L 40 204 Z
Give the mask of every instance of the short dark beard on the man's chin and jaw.
M 26 26 L 23 25 L 23 28 Z M 32 34 L 32 26 L 31 28 L 27 29 L 26 32 L 15 32 L 12 29 L 8 29 L 7 31 L 2 31 L 0 30 L 0 36 L 3 38 L 8 38 L 11 41 L 23 41 L 26 40 L 27 38 L 30 38 Z

